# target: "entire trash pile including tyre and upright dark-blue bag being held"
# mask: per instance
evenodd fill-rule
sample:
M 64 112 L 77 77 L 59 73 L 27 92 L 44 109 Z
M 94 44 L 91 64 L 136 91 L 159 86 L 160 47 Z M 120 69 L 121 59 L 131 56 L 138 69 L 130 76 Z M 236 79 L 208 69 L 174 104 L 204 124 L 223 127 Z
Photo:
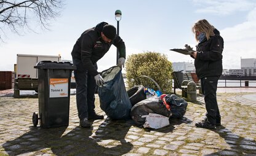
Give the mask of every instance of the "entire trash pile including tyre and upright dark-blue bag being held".
M 137 85 L 126 92 L 121 68 L 113 66 L 102 72 L 105 83 L 98 87 L 100 107 L 111 119 L 130 119 L 138 127 L 162 128 L 170 118 L 182 118 L 188 103 L 177 95 Z

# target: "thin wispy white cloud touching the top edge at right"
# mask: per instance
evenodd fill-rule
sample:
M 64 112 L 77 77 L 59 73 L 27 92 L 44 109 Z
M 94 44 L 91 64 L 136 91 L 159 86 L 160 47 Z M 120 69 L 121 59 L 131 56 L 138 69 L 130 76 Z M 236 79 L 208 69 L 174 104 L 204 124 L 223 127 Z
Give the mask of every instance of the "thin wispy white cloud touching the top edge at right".
M 246 11 L 255 7 L 255 1 L 240 1 L 240 0 L 194 0 L 201 9 L 196 10 L 197 13 L 208 13 L 216 15 L 230 15 L 238 11 Z

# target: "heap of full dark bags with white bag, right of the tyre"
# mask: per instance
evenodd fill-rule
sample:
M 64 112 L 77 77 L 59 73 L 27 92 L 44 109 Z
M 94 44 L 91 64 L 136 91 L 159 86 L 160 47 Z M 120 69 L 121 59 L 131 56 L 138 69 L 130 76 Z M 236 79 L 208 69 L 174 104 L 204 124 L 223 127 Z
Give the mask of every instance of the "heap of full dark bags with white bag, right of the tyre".
M 185 99 L 177 95 L 155 93 L 135 104 L 130 116 L 138 127 L 158 129 L 169 125 L 170 118 L 182 118 L 187 106 Z

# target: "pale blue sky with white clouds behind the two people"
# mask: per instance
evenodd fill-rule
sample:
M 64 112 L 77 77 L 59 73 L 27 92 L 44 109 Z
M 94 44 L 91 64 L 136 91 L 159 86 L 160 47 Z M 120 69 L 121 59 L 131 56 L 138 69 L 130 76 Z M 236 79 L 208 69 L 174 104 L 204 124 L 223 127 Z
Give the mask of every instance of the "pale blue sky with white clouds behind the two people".
M 126 58 L 142 52 L 159 52 L 171 62 L 193 62 L 188 55 L 170 51 L 196 46 L 191 31 L 197 20 L 206 19 L 224 39 L 223 68 L 240 69 L 241 58 L 256 58 L 255 0 L 66 0 L 60 17 L 50 21 L 49 30 L 31 28 L 20 35 L 6 29 L 0 42 L 0 71 L 14 71 L 17 54 L 61 55 L 72 60 L 71 50 L 81 33 L 102 21 L 116 26 L 116 10 L 122 11 L 119 36 L 126 44 Z M 31 15 L 33 17 L 33 15 Z M 255 47 L 254 47 L 255 46 Z M 111 46 L 98 61 L 98 71 L 116 64 L 116 47 Z M 124 68 L 125 70 L 125 68 Z

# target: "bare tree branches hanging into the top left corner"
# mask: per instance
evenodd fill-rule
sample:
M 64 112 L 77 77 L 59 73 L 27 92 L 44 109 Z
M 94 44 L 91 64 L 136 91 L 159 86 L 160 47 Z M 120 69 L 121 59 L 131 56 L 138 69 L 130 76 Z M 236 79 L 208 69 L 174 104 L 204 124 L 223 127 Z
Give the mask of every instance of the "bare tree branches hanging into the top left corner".
M 5 30 L 21 34 L 30 29 L 31 21 L 48 29 L 50 20 L 60 15 L 64 0 L 0 0 L 0 42 Z

